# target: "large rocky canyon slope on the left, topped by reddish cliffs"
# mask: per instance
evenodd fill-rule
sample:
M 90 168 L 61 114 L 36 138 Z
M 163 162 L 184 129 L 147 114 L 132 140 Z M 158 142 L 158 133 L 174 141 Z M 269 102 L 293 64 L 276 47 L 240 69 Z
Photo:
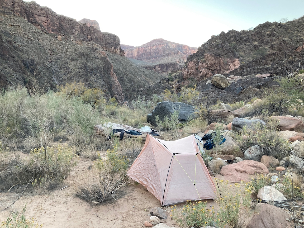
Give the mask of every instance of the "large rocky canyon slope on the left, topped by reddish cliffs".
M 123 101 L 160 78 L 124 57 L 114 34 L 35 2 L 0 0 L 1 88 L 20 84 L 33 92 L 81 81 Z

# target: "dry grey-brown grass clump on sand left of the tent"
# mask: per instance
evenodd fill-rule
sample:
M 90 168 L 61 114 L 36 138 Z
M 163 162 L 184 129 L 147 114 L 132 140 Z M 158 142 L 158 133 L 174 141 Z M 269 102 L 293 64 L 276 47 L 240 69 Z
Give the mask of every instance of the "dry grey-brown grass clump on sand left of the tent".
M 92 204 L 118 199 L 121 189 L 126 185 L 122 173 L 116 173 L 110 166 L 93 168 L 77 178 L 75 195 Z

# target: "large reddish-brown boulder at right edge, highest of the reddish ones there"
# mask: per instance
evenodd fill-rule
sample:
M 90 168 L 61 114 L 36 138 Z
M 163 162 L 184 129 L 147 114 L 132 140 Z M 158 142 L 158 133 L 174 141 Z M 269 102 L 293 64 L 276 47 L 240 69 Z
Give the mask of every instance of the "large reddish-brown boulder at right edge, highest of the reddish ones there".
M 277 128 L 281 131 L 304 130 L 304 123 L 300 119 L 287 116 L 271 116 L 271 119 L 278 120 Z

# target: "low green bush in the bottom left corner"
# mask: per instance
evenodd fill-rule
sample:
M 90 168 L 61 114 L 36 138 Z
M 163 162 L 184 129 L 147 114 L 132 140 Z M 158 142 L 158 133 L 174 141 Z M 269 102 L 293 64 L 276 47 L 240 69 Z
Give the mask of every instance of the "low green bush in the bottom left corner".
M 26 219 L 25 216 L 26 206 L 22 208 L 21 212 L 15 211 L 5 219 L 5 221 L 1 222 L 0 228 L 38 228 L 42 227 L 42 224 L 39 225 L 36 222 L 35 216 L 29 217 Z

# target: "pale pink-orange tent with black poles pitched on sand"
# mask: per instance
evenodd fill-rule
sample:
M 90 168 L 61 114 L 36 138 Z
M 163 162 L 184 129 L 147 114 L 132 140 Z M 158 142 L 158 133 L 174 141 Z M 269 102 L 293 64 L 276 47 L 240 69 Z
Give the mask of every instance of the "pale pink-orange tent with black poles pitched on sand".
M 175 141 L 147 135 L 127 175 L 155 195 L 161 206 L 217 198 L 194 135 Z

